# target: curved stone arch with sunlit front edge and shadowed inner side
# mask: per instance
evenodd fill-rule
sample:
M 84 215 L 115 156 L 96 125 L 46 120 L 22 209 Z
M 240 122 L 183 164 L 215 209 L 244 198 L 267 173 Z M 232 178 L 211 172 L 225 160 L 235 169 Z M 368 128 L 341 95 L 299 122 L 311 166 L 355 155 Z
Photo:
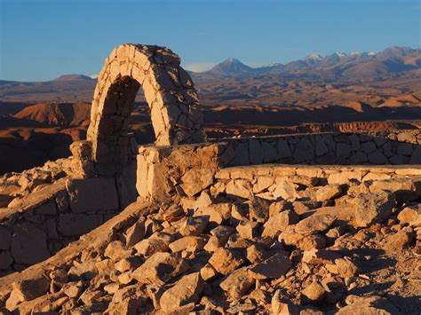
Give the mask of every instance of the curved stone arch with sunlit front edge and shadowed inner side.
M 151 109 L 157 146 L 206 140 L 194 83 L 166 47 L 126 43 L 105 60 L 91 105 L 87 139 L 92 160 L 118 164 L 127 159 L 129 117 L 141 86 Z

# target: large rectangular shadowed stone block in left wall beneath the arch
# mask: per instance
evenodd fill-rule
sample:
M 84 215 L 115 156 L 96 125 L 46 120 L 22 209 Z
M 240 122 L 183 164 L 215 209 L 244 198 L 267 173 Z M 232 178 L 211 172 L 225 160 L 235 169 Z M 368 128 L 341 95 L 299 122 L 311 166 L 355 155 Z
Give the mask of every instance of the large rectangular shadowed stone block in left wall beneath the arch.
M 117 210 L 119 207 L 114 177 L 68 179 L 66 187 L 70 209 L 75 213 Z

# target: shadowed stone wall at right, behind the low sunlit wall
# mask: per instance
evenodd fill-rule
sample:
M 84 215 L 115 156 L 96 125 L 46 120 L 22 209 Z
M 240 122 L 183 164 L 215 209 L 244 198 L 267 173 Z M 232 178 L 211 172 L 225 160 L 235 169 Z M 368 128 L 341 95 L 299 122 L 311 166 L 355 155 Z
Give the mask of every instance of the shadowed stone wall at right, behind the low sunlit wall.
M 230 166 L 273 162 L 319 165 L 421 164 L 420 130 L 301 134 L 226 141 L 234 151 Z

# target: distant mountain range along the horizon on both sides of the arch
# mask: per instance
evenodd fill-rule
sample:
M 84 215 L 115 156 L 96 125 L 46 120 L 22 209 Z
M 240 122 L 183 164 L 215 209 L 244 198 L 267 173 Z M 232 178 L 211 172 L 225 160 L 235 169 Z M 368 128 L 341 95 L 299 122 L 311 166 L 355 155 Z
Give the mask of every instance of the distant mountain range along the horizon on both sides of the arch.
M 421 77 L 421 50 L 389 47 L 374 52 L 335 52 L 327 56 L 312 53 L 287 64 L 249 67 L 228 58 L 211 70 L 190 72 L 199 91 L 226 80 L 247 79 L 258 83 L 306 80 L 324 83 L 369 82 L 388 78 Z M 23 83 L 0 80 L 0 101 L 90 102 L 97 79 L 86 75 L 62 75 L 47 82 Z M 141 98 L 138 100 L 142 100 Z

